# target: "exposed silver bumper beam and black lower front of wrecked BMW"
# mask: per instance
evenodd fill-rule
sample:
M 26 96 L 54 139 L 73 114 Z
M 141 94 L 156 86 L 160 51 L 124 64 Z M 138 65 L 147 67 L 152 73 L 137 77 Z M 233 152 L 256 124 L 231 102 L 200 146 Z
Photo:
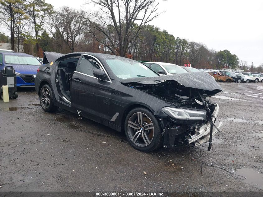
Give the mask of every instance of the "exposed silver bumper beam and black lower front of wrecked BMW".
M 212 118 L 211 118 L 213 123 L 215 123 L 215 121 L 216 121 L 216 117 L 218 116 L 218 112 L 219 112 L 219 107 L 218 107 L 218 104 L 215 103 L 214 104 L 214 111 L 212 113 Z M 219 122 L 217 129 L 216 128 L 213 129 L 212 136 L 214 136 L 218 132 L 218 129 L 220 129 L 222 124 L 223 124 L 223 122 Z M 177 127 L 176 128 L 169 128 L 169 127 L 165 126 L 165 125 L 167 125 L 167 122 L 164 119 L 161 120 L 161 125 L 163 126 L 163 128 L 165 128 L 165 129 L 163 129 L 163 135 L 164 135 L 163 147 L 164 148 L 182 147 L 182 146 L 186 146 L 189 144 L 193 144 L 194 146 L 198 146 L 202 143 L 208 142 L 209 138 L 210 138 L 211 124 L 209 121 L 207 121 L 206 124 L 204 124 L 200 128 L 196 128 L 195 134 L 185 136 L 186 137 L 184 139 L 185 141 L 184 142 L 181 141 L 181 146 L 180 145 L 178 146 L 178 143 L 176 144 L 175 142 L 176 142 L 176 138 L 178 138 L 180 135 L 184 135 L 184 134 L 181 134 Z

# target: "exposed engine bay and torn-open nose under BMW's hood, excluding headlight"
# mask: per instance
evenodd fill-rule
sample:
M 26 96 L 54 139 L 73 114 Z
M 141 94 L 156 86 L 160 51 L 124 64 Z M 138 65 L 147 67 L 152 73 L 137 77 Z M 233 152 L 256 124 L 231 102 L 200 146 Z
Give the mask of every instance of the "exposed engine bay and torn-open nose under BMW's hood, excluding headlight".
M 180 117 L 179 119 L 174 118 L 169 114 L 167 114 L 167 118 L 160 117 L 159 120 L 163 129 L 165 148 L 187 146 L 192 142 L 194 142 L 192 144 L 199 145 L 199 141 L 203 143 L 207 139 L 206 141 L 210 141 L 208 151 L 210 150 L 213 126 L 215 126 L 214 122 L 216 119 L 214 114 L 215 109 L 218 107 L 217 104 L 212 104 L 209 101 L 209 97 L 214 95 L 213 91 L 185 87 L 177 81 L 138 82 L 127 85 L 156 96 L 173 105 L 176 109 L 206 112 L 202 120 L 191 120 L 190 117 L 188 120 L 182 120 Z M 200 134 L 201 129 L 205 130 L 204 132 L 201 131 L 202 134 Z M 196 137 L 198 135 L 200 136 L 199 138 Z M 197 138 L 197 140 L 193 140 L 193 137 Z

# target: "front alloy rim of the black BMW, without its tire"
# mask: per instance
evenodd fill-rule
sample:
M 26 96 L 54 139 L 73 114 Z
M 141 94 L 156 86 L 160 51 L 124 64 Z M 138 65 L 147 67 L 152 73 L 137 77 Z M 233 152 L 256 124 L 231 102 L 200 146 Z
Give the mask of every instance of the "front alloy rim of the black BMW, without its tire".
M 148 115 L 141 112 L 134 113 L 129 118 L 127 127 L 128 136 L 136 146 L 145 147 L 152 142 L 154 127 Z

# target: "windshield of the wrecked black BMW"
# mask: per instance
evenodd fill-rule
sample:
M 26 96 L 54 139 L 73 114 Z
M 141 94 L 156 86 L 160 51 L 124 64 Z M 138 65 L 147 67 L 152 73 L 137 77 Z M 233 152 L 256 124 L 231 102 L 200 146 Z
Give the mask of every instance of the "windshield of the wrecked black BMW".
M 136 61 L 126 59 L 106 59 L 111 71 L 121 79 L 133 77 L 156 77 L 159 76 L 147 66 Z

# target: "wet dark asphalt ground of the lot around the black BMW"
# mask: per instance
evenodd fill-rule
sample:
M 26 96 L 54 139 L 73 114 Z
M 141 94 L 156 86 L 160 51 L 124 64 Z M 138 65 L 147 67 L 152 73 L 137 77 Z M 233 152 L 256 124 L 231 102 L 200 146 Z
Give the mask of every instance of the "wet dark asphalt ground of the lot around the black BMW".
M 219 84 L 210 101 L 223 125 L 210 152 L 208 143 L 139 152 L 124 134 L 46 113 L 34 89 L 19 89 L 0 100 L 0 191 L 263 191 L 263 83 Z

